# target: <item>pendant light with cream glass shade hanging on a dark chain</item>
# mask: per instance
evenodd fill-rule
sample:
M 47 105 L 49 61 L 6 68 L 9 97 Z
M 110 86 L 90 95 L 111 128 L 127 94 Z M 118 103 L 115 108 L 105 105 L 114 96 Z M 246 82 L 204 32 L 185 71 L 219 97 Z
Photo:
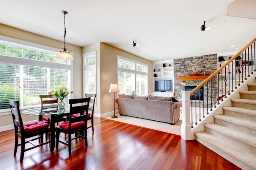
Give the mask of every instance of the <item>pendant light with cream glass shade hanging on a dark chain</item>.
M 74 60 L 74 57 L 70 54 L 70 52 L 66 51 L 66 15 L 67 11 L 61 11 L 64 14 L 64 48 L 63 51 L 61 51 L 59 54 L 55 56 L 56 59 L 64 59 L 64 60 Z

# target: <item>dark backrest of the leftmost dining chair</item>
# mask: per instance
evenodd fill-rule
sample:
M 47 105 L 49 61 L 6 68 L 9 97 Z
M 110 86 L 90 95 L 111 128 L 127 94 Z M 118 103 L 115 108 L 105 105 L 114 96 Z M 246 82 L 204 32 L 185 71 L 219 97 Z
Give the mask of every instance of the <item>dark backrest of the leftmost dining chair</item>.
M 13 124 L 14 124 L 15 133 L 18 133 L 18 127 L 20 127 L 21 135 L 25 134 L 22 118 L 20 115 L 19 101 L 18 100 L 9 100 L 9 105 L 11 108 L 12 120 L 13 120 Z

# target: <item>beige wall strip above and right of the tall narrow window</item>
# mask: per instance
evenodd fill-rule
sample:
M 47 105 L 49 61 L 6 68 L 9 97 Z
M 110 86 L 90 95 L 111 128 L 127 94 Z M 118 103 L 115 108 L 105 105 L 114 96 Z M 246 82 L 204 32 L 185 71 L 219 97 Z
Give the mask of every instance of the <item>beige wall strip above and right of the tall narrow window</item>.
M 93 51 L 97 52 L 97 56 L 96 56 L 96 67 L 97 67 L 96 88 L 97 88 L 97 92 L 98 92 L 98 91 L 100 91 L 100 42 L 83 47 L 83 54 L 90 53 Z M 83 91 L 83 94 L 85 94 L 84 91 Z M 100 114 L 100 93 L 97 93 L 96 102 L 97 102 L 97 105 L 94 108 L 94 114 Z

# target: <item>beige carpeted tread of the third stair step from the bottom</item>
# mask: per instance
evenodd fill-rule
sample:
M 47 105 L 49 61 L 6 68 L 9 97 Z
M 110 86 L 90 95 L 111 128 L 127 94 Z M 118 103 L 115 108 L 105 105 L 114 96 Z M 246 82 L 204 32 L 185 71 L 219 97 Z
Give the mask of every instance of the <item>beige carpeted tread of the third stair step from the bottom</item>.
M 239 119 L 239 118 L 236 118 L 236 117 L 231 117 L 231 116 L 227 116 L 227 115 L 223 115 L 223 114 L 213 115 L 213 117 L 215 119 L 220 119 L 220 120 L 223 120 L 225 122 L 230 122 L 230 123 L 233 123 L 235 125 L 246 127 L 248 129 L 256 130 L 256 123 L 252 122 L 252 121 Z

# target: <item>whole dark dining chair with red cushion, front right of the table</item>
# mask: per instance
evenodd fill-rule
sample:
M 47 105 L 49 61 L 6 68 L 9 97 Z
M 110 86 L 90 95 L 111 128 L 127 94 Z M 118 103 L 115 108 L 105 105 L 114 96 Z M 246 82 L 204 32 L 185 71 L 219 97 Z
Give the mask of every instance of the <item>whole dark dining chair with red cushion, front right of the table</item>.
M 68 153 L 71 155 L 71 141 L 81 137 L 84 139 L 85 146 L 88 146 L 87 142 L 87 117 L 89 109 L 90 97 L 83 99 L 70 99 L 70 113 L 68 116 L 68 121 L 63 122 L 56 126 L 56 149 L 58 148 L 58 143 L 62 143 L 68 146 Z M 80 104 L 79 106 L 74 106 Z M 80 116 L 72 117 L 73 114 L 80 113 Z M 59 140 L 60 133 L 68 134 L 68 140 L 63 142 Z M 72 134 L 78 134 L 75 138 L 71 139 Z

